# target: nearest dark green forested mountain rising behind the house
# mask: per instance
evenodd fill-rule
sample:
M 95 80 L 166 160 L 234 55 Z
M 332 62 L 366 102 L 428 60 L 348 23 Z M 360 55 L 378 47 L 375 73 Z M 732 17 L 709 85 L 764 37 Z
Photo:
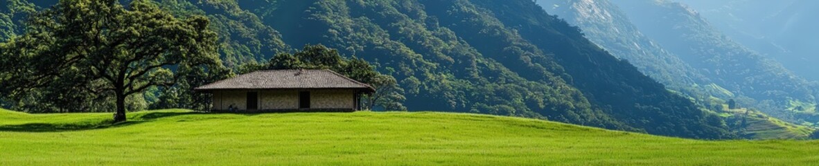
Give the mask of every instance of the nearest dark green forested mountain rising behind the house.
M 159 0 L 205 15 L 225 65 L 305 44 L 399 80 L 410 110 L 513 115 L 652 134 L 727 138 L 725 121 L 668 92 L 529 0 Z M 42 6 L 41 6 L 42 7 Z

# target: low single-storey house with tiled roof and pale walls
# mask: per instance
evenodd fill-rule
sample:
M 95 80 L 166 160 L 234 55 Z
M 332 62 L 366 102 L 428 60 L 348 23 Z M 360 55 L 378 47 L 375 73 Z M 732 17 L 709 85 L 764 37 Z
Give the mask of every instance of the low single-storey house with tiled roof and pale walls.
M 373 87 L 332 70 L 263 70 L 194 89 L 213 94 L 212 111 L 354 111 Z

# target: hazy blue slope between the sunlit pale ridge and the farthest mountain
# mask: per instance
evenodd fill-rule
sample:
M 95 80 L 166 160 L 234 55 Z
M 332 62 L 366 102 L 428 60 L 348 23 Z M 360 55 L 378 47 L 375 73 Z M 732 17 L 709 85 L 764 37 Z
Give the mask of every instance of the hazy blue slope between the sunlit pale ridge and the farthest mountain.
M 612 2 L 643 34 L 733 92 L 742 105 L 794 123 L 816 121 L 809 111 L 790 111 L 796 105 L 812 110 L 815 90 L 808 81 L 722 35 L 697 12 L 665 0 Z

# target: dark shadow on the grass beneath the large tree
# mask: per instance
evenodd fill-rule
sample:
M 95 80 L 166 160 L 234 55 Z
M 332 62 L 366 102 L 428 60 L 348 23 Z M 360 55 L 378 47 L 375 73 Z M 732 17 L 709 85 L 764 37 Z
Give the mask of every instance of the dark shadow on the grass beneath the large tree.
M 70 132 L 83 131 L 102 128 L 119 128 L 138 123 L 145 123 L 154 119 L 161 119 L 185 114 L 203 114 L 197 112 L 152 112 L 147 114 L 137 114 L 130 117 L 129 121 L 111 123 L 112 119 L 99 120 L 95 122 L 76 123 L 23 123 L 0 125 L 0 132 Z

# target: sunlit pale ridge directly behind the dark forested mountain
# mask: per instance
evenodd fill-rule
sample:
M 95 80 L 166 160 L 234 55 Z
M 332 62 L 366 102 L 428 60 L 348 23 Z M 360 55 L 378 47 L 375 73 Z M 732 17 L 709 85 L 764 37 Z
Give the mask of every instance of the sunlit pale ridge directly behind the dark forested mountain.
M 604 47 L 613 56 L 630 61 L 640 71 L 648 74 L 659 82 L 667 85 L 673 91 L 690 97 L 699 105 L 709 110 L 725 115 L 726 119 L 749 119 L 747 114 L 735 114 L 723 105 L 731 98 L 747 96 L 737 95 L 726 91 L 717 83 L 713 83 L 700 74 L 699 70 L 690 67 L 686 61 L 672 52 L 667 52 L 663 46 L 654 43 L 631 24 L 631 20 L 620 9 L 607 0 L 540 0 L 537 1 L 546 11 L 566 19 L 570 24 L 583 29 L 586 37 Z M 751 105 L 744 105 L 751 106 Z M 772 118 L 765 118 L 771 119 Z M 735 121 L 735 120 L 734 120 Z M 732 130 L 742 132 L 744 128 L 754 128 L 755 123 L 728 123 Z M 780 128 L 775 128 L 779 130 Z M 790 132 L 789 130 L 782 130 Z M 794 133 L 807 137 L 803 132 Z M 771 134 L 740 134 L 748 138 L 770 138 Z M 786 134 L 783 134 L 783 137 Z M 773 136 L 777 137 L 777 136 Z

